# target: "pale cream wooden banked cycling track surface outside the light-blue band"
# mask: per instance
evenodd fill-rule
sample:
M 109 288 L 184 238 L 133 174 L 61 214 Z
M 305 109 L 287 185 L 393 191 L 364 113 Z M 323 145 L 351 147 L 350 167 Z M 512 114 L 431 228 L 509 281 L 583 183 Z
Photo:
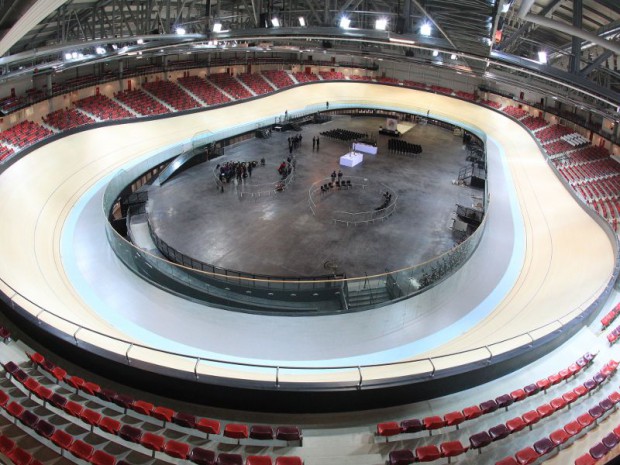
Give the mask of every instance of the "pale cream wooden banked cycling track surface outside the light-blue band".
M 148 345 L 147 341 L 123 332 L 93 311 L 83 298 L 83 290 L 77 289 L 70 279 L 65 269 L 62 238 L 72 209 L 93 186 L 121 167 L 161 147 L 187 142 L 199 130 L 216 132 L 280 115 L 284 109 L 293 111 L 313 104 L 324 105 L 326 100 L 332 108 L 338 102 L 364 101 L 367 105 L 419 114 L 430 110 L 438 119 L 445 118 L 486 133 L 501 147 L 505 157 L 524 227 L 523 260 L 516 279 L 492 312 L 462 334 L 426 353 L 415 354 L 416 357 L 468 351 L 549 323 L 533 333 L 534 338 L 542 336 L 580 313 L 609 284 L 615 263 L 609 236 L 559 181 L 536 142 L 519 124 L 487 108 L 443 95 L 368 83 L 321 83 L 210 111 L 87 130 L 34 150 L 0 176 L 3 218 L 0 278 L 4 282 L 0 283 L 0 291 L 67 334 L 74 334 L 78 326 L 51 313 L 104 334 Z M 122 268 L 120 262 L 118 267 Z M 127 278 L 138 279 L 129 272 Z M 109 291 L 114 293 L 113 288 Z M 118 296 L 119 305 L 122 299 Z M 41 308 L 51 313 L 42 312 Z M 371 312 L 374 310 L 368 313 Z M 217 328 L 221 322 L 217 321 L 217 315 L 213 318 Z M 303 325 L 296 325 L 300 327 Z M 378 338 L 392 337 L 381 334 L 381 328 L 375 331 Z M 80 337 L 104 345 L 112 352 L 126 350 L 125 344 L 119 343 L 116 348 L 113 341 L 87 331 L 81 332 Z M 507 346 L 525 340 L 517 338 Z M 479 356 L 466 352 L 451 357 L 450 361 L 446 359 L 446 363 L 467 363 Z M 329 359 L 329 354 L 325 358 Z M 403 359 L 406 358 L 404 354 Z M 157 363 L 179 367 L 178 360 L 172 357 L 168 360 L 161 356 Z M 180 369 L 193 368 L 192 361 L 180 366 Z M 378 368 L 372 376 L 391 376 L 394 370 L 408 369 L 411 367 Z M 222 369 L 222 373 L 233 377 L 252 376 L 229 369 Z M 301 379 L 304 376 L 309 375 Z M 309 378 L 316 380 L 317 376 L 320 373 L 314 372 Z M 326 379 L 334 376 L 338 375 L 328 374 Z

